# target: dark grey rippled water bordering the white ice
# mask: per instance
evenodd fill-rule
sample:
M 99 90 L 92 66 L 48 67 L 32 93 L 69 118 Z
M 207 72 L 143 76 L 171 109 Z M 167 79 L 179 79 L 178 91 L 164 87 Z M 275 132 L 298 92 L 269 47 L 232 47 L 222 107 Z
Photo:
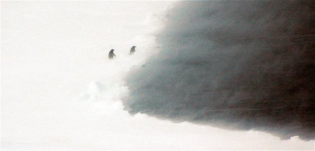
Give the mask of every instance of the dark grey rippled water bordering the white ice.
M 159 54 L 126 79 L 131 114 L 315 135 L 314 1 L 180 2 Z

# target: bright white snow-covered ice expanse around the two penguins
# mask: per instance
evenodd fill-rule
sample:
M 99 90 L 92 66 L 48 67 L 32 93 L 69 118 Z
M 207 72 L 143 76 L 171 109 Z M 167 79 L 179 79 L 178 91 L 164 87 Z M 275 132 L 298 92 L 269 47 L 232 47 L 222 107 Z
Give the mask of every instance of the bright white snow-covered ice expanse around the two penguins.
M 314 149 L 313 140 L 296 135 L 281 140 L 263 131 L 174 122 L 130 106 L 145 97 L 135 93 L 139 85 L 154 84 L 148 73 L 177 70 L 169 70 L 165 58 L 191 58 L 183 47 L 165 50 L 182 42 L 174 39 L 181 31 L 207 22 L 177 22 L 206 7 L 188 8 L 175 1 L 2 1 L 1 149 Z M 128 55 L 132 46 L 136 53 Z M 156 62 L 159 67 L 143 73 Z M 142 80 L 133 80 L 136 75 Z M 173 97 L 167 101 L 176 104 Z

